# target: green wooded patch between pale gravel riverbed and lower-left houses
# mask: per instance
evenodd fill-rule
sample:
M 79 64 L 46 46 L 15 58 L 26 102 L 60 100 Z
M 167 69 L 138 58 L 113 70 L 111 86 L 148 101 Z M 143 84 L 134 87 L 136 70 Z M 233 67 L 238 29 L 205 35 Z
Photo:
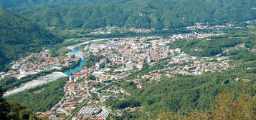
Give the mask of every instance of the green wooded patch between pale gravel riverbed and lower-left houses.
M 49 84 L 37 86 L 33 89 L 22 91 L 19 94 L 6 96 L 5 99 L 7 101 L 18 101 L 26 105 L 33 112 L 47 111 L 64 97 L 62 88 L 65 86 L 65 81 L 67 81 L 67 78 L 60 78 Z

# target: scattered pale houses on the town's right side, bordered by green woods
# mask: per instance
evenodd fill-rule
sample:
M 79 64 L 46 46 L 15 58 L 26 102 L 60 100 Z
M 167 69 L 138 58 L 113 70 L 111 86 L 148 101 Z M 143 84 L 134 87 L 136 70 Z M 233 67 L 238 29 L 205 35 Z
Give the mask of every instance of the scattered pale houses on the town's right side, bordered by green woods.
M 229 65 L 229 60 L 227 57 L 209 59 L 197 58 L 194 56 L 188 56 L 186 54 L 179 54 L 179 56 L 174 56 L 172 59 L 166 61 L 169 61 L 169 64 L 166 64 L 165 69 L 157 69 L 151 71 L 149 74 L 138 76 L 138 78 L 148 79 L 148 82 L 150 83 L 151 81 L 157 81 L 161 79 L 163 74 L 158 74 L 159 72 L 164 72 L 166 73 L 165 76 L 172 77 L 175 74 L 200 75 L 207 72 L 214 73 L 222 72 L 228 69 L 234 69 L 234 66 Z M 175 64 L 175 66 L 169 66 L 171 64 Z M 139 87 L 141 86 L 138 86 L 138 88 Z

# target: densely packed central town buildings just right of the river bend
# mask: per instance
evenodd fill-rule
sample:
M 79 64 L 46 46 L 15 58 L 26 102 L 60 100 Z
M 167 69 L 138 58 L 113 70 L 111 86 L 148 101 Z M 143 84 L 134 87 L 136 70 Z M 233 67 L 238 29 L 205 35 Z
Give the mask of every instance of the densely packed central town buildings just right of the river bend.
M 149 39 L 157 40 L 149 41 Z M 101 55 L 108 58 L 108 66 L 125 66 L 123 71 L 134 67 L 142 69 L 143 64 L 151 64 L 166 58 L 169 52 L 169 47 L 164 46 L 164 41 L 158 36 L 115 39 L 108 41 L 108 44 L 91 45 L 85 49 L 88 49 L 96 56 Z M 96 65 L 103 64 L 103 62 L 100 61 Z

